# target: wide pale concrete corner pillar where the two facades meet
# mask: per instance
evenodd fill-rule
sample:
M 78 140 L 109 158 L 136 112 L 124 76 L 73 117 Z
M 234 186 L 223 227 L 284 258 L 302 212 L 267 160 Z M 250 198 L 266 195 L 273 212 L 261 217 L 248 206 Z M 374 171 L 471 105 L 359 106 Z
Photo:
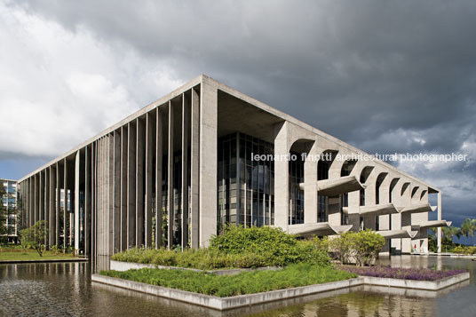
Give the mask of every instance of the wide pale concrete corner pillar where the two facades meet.
M 207 77 L 203 77 L 200 97 L 199 232 L 200 245 L 206 248 L 211 235 L 217 234 L 218 157 L 218 90 Z

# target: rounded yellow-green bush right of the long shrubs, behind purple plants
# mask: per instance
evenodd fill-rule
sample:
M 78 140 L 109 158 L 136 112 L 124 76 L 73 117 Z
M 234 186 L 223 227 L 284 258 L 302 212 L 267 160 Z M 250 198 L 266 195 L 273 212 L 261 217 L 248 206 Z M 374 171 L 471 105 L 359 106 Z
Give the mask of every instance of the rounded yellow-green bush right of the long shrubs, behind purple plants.
M 353 258 L 359 266 L 369 265 L 378 257 L 378 252 L 385 245 L 385 238 L 371 230 L 352 234 Z

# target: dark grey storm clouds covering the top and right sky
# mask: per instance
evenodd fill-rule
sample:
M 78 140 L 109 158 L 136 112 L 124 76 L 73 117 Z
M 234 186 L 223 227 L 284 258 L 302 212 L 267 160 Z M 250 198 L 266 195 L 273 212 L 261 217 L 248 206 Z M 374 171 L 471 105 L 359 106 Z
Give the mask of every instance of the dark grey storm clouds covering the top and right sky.
M 370 153 L 451 153 L 474 144 L 473 1 L 12 5 L 167 60 L 183 80 L 210 75 Z M 135 96 L 144 105 L 158 97 Z M 429 181 L 435 172 L 409 171 Z M 476 177 L 473 162 L 438 173 L 436 186 L 450 190 L 441 179 L 469 186 Z M 458 190 L 469 196 L 464 206 L 449 198 L 452 211 L 471 215 L 472 192 Z

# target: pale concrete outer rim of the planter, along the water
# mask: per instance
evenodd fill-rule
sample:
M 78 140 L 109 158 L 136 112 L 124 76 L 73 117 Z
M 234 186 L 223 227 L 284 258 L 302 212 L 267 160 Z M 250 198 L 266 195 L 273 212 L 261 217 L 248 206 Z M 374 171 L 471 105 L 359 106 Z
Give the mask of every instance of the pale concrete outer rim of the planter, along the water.
M 178 300 L 193 305 L 201 305 L 204 307 L 224 311 L 233 308 L 239 308 L 249 305 L 258 305 L 267 302 L 273 302 L 282 299 L 288 299 L 293 297 L 304 297 L 306 295 L 312 295 L 316 293 L 322 293 L 327 291 L 333 291 L 336 289 L 352 288 L 360 285 L 377 285 L 387 286 L 390 288 L 401 289 L 425 289 L 425 290 L 440 290 L 448 288 L 462 281 L 466 281 L 470 278 L 470 273 L 461 273 L 455 276 L 442 279 L 440 281 L 420 281 L 424 283 L 401 283 L 401 281 L 410 280 L 396 280 L 390 278 L 369 278 L 368 276 L 360 276 L 354 279 L 344 281 L 332 281 L 329 283 L 314 284 L 301 286 L 290 289 L 277 289 L 257 294 L 239 295 L 234 297 L 215 297 L 210 295 L 203 295 L 199 293 L 189 292 L 180 289 L 169 289 L 161 286 L 151 285 L 138 281 L 123 280 L 115 277 L 109 277 L 99 274 L 92 274 L 91 281 L 99 282 L 115 286 L 122 289 L 131 289 L 155 295 L 157 297 L 165 297 L 169 299 Z M 393 280 L 393 281 L 387 281 Z M 419 282 L 419 281 L 417 281 Z

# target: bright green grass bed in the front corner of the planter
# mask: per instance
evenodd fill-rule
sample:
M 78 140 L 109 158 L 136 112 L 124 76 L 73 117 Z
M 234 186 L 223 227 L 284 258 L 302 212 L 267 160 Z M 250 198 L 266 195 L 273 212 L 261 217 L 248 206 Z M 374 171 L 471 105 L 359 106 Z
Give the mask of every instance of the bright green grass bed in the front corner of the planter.
M 99 274 L 217 297 L 254 294 L 357 277 L 355 273 L 310 264 L 289 265 L 278 271 L 243 272 L 237 275 L 222 276 L 151 268 L 125 272 L 101 271 Z

